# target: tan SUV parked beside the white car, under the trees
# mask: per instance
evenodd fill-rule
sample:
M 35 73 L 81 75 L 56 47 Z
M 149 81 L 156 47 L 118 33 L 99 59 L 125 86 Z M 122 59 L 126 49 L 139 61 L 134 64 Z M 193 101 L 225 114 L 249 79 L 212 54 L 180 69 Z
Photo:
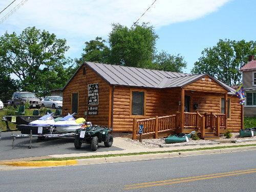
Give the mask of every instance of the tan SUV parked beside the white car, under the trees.
M 29 102 L 30 108 L 40 108 L 41 107 L 41 101 L 40 99 L 36 98 L 34 93 L 30 92 L 15 92 L 12 95 L 12 105 L 22 105 L 26 102 Z

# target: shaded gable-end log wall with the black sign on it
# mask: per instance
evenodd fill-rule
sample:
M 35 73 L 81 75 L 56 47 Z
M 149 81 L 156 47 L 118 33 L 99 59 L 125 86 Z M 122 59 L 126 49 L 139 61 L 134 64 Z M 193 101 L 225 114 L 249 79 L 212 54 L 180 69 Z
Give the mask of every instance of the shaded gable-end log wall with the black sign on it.
M 68 109 L 67 112 L 71 113 L 72 93 L 79 93 L 78 114 L 76 117 L 84 117 L 84 112 L 88 111 L 88 84 L 99 83 L 99 104 L 89 105 L 98 106 L 98 115 L 88 115 L 87 121 L 91 121 L 93 124 L 109 126 L 110 85 L 88 66 L 86 66 L 86 74 L 83 74 L 84 67 L 85 65 L 79 69 L 68 86 L 63 90 L 62 109 Z M 62 110 L 62 115 L 65 115 L 65 110 Z

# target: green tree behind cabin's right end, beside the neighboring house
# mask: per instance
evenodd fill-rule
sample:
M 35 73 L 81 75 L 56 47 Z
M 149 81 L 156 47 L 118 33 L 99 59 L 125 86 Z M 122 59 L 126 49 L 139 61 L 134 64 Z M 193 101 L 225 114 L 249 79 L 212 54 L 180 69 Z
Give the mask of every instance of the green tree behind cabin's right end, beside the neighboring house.
M 207 73 L 229 86 L 241 83 L 239 69 L 248 62 L 248 55 L 256 54 L 256 41 L 220 39 L 216 46 L 202 51 L 192 73 Z

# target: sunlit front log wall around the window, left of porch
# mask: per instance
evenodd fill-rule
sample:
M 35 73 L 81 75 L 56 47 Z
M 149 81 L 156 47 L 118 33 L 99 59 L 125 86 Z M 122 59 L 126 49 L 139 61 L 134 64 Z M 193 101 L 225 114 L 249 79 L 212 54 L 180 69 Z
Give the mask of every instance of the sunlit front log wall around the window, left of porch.
M 145 95 L 144 116 L 132 115 L 132 91 L 143 91 Z M 132 132 L 133 118 L 145 119 L 155 116 L 166 116 L 178 111 L 180 91 L 160 89 L 133 89 L 115 87 L 113 130 L 116 132 Z

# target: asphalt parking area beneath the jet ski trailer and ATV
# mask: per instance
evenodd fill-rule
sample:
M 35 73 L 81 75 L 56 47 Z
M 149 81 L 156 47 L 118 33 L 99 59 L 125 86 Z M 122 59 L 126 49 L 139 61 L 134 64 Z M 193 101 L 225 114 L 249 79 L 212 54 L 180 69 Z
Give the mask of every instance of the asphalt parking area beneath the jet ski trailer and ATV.
M 17 133 L 20 132 L 13 132 L 13 134 Z M 30 145 L 29 138 L 16 138 L 15 148 L 12 149 L 12 138 L 10 136 L 11 132 L 2 133 L 2 140 L 0 141 L 0 160 L 92 152 L 89 144 L 83 144 L 80 150 L 76 150 L 73 138 L 46 138 L 44 141 L 38 141 L 37 137 L 35 137 L 32 138 L 31 150 L 28 149 Z M 104 146 L 104 143 L 99 143 L 97 152 L 116 150 L 122 149 L 115 146 L 108 148 Z

